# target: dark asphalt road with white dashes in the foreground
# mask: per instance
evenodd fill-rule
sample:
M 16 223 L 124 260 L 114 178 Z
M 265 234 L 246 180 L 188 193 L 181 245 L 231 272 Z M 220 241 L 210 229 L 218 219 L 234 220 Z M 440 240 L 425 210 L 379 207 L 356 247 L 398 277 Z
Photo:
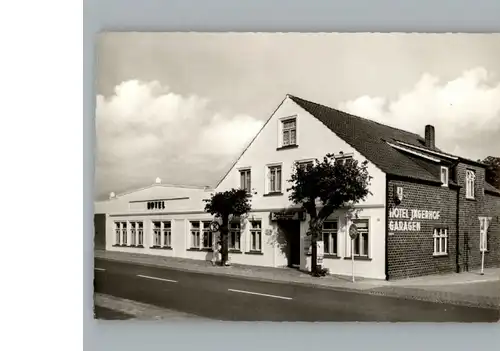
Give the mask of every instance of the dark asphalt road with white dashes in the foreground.
M 497 322 L 496 310 L 95 260 L 98 293 L 229 321 Z

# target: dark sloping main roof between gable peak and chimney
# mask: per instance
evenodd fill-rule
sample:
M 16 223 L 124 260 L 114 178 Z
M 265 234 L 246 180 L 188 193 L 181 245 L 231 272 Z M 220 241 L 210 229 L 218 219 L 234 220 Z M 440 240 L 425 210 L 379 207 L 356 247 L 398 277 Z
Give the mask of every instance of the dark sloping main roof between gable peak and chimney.
M 426 149 L 425 140 L 420 135 L 351 115 L 296 96 L 289 95 L 289 97 L 383 172 L 408 178 L 440 182 L 439 175 L 432 174 L 426 167 L 422 167 L 408 157 L 407 153 L 388 144 L 403 142 Z M 439 149 L 433 150 L 441 152 Z

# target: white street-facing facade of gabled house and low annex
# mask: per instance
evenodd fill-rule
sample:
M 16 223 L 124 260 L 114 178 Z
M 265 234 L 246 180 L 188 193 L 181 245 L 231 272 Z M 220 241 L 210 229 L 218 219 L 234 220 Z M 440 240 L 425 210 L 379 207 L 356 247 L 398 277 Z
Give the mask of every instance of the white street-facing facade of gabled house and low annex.
M 289 118 L 295 118 L 295 132 L 293 132 L 293 123 L 289 123 L 285 125 L 286 133 L 284 133 L 283 121 Z M 288 130 L 290 126 L 292 127 Z M 295 146 L 281 148 L 287 141 L 295 141 Z M 239 246 L 238 250 L 232 250 L 229 254 L 232 262 L 272 267 L 284 267 L 296 263 L 301 269 L 310 269 L 310 256 L 307 254 L 309 249 L 306 236 L 307 218 L 303 221 L 290 220 L 278 224 L 277 221 L 271 219 L 271 213 L 292 207 L 287 192 L 291 184 L 287 180 L 290 179 L 295 162 L 321 159 L 327 153 L 338 154 L 340 151 L 360 162 L 365 160 L 318 119 L 288 97 L 285 98 L 249 147 L 213 190 L 219 192 L 241 187 L 240 171 L 250 171 L 252 211 L 241 222 L 240 243 L 233 245 Z M 277 172 L 277 169 L 280 169 L 280 172 Z M 355 255 L 355 274 L 367 278 L 384 279 L 386 179 L 385 173 L 371 163 L 368 163 L 368 171 L 373 177 L 370 188 L 372 195 L 357 205 L 357 208 L 361 210 L 359 220 L 366 220 L 367 224 L 367 234 L 363 238 L 368 239 L 359 243 L 359 255 Z M 246 181 L 243 183 L 246 184 Z M 275 190 L 274 193 L 269 194 L 272 190 Z M 101 211 L 107 214 L 106 249 L 211 259 L 211 252 L 193 250 L 191 233 L 191 221 L 212 220 L 210 214 L 203 211 L 205 204 L 202 201 L 204 198 L 209 198 L 210 193 L 208 189 L 157 184 L 96 204 L 96 212 Z M 153 200 L 164 201 L 162 206 L 165 208 L 148 210 L 146 203 Z M 332 254 L 326 255 L 323 261 L 323 266 L 332 274 L 351 274 L 351 259 L 349 258 L 351 240 L 347 231 L 349 223 L 345 215 L 343 211 L 334 213 L 330 217 L 333 222 L 329 224 L 331 228 L 325 229 L 325 233 L 331 233 L 332 237 L 329 246 L 336 244 L 335 250 L 331 250 Z M 129 235 L 127 241 L 130 243 L 131 223 L 139 221 L 143 223 L 144 248 L 114 246 L 116 244 L 115 222 L 127 223 Z M 171 245 L 167 249 L 151 248 L 155 243 L 153 222 L 156 221 L 171 222 Z M 260 228 L 252 230 L 252 223 L 259 224 Z M 284 229 L 282 225 L 288 229 Z M 296 229 L 290 229 L 292 227 Z M 259 237 L 260 244 L 258 243 Z

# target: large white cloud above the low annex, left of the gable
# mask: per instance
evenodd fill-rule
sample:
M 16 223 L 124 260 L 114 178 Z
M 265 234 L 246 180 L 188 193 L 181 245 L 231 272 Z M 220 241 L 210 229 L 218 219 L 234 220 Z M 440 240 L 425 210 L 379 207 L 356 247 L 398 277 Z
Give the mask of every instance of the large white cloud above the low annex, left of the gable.
M 211 185 L 262 125 L 157 81 L 123 82 L 112 96 L 97 96 L 96 195 L 144 186 L 157 176 Z

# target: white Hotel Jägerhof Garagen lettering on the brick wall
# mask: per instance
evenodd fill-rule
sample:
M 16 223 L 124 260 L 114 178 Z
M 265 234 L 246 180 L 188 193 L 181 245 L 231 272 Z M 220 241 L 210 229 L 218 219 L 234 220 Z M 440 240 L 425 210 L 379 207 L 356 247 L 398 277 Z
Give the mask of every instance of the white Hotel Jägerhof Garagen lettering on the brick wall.
M 421 220 L 438 220 L 440 211 L 392 208 L 389 210 L 389 230 L 393 232 L 418 232 Z

